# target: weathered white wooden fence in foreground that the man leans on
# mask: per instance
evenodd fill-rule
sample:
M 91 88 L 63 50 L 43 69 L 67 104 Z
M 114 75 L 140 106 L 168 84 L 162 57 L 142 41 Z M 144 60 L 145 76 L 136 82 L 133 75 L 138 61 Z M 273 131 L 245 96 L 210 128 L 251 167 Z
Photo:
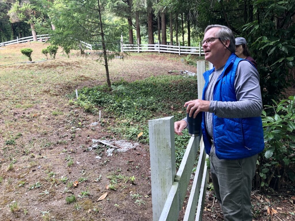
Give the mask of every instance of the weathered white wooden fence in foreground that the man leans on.
M 202 97 L 205 61 L 197 62 L 198 97 Z M 201 125 L 200 125 L 201 126 Z M 183 220 L 202 220 L 208 182 L 206 153 L 201 137 L 191 137 L 176 173 L 174 117 L 149 121 L 153 221 L 177 221 L 186 196 L 194 162 L 199 160 Z

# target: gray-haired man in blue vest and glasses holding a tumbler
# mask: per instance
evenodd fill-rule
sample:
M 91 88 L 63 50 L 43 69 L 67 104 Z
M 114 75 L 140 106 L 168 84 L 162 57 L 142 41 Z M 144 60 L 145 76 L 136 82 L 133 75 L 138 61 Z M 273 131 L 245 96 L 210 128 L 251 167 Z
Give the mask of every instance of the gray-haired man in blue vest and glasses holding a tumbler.
M 202 135 L 210 156 L 211 177 L 226 221 L 251 221 L 251 189 L 257 154 L 264 149 L 259 74 L 235 55 L 235 37 L 225 26 L 204 31 L 205 60 L 214 65 L 203 76 L 202 100 L 184 104 L 190 116 L 203 111 Z M 174 131 L 187 127 L 186 118 Z

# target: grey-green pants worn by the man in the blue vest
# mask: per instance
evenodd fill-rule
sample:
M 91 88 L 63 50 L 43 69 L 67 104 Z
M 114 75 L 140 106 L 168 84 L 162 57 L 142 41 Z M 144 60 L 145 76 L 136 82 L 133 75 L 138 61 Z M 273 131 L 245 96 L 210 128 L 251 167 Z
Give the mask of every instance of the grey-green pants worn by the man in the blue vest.
M 238 160 L 220 160 L 212 145 L 211 177 L 226 221 L 252 221 L 251 189 L 257 154 Z

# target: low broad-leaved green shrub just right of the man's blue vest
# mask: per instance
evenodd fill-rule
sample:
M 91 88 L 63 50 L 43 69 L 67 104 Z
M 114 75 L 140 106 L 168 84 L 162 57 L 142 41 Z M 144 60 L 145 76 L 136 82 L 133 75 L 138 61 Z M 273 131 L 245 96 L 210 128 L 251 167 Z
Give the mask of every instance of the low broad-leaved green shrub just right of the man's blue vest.
M 273 116 L 262 112 L 265 149 L 258 156 L 258 179 L 256 182 L 265 190 L 271 187 L 280 191 L 287 179 L 295 182 L 295 98 L 282 100 L 274 105 Z

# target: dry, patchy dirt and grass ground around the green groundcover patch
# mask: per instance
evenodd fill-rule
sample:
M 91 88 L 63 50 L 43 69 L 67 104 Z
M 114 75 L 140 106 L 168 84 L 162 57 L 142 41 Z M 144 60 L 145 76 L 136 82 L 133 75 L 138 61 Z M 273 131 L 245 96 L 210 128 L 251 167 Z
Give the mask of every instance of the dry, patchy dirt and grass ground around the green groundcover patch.
M 104 66 L 96 57 L 78 52 L 67 59 L 61 50 L 56 60 L 17 63 L 27 60 L 19 52 L 23 47 L 6 46 L 9 53 L 0 50 L 0 221 L 151 221 L 149 146 L 125 141 L 132 148 L 112 156 L 102 144 L 89 148 L 92 139 L 112 143 L 121 138 L 105 126 L 91 126 L 98 116 L 70 105 L 66 97 L 76 88 L 105 83 Z M 39 51 L 32 54 L 33 61 L 44 59 L 40 51 L 47 45 L 25 47 Z M 132 54 L 110 63 L 111 81 L 134 81 L 169 70 L 196 72 L 178 55 L 169 54 Z M 102 118 L 116 126 L 104 112 Z M 8 144 L 10 140 L 15 144 Z M 72 194 L 76 200 L 68 203 Z M 99 200 L 101 196 L 105 197 Z M 294 220 L 293 196 L 254 191 L 254 220 Z M 269 215 L 268 207 L 278 213 Z M 223 220 L 209 189 L 203 220 Z

